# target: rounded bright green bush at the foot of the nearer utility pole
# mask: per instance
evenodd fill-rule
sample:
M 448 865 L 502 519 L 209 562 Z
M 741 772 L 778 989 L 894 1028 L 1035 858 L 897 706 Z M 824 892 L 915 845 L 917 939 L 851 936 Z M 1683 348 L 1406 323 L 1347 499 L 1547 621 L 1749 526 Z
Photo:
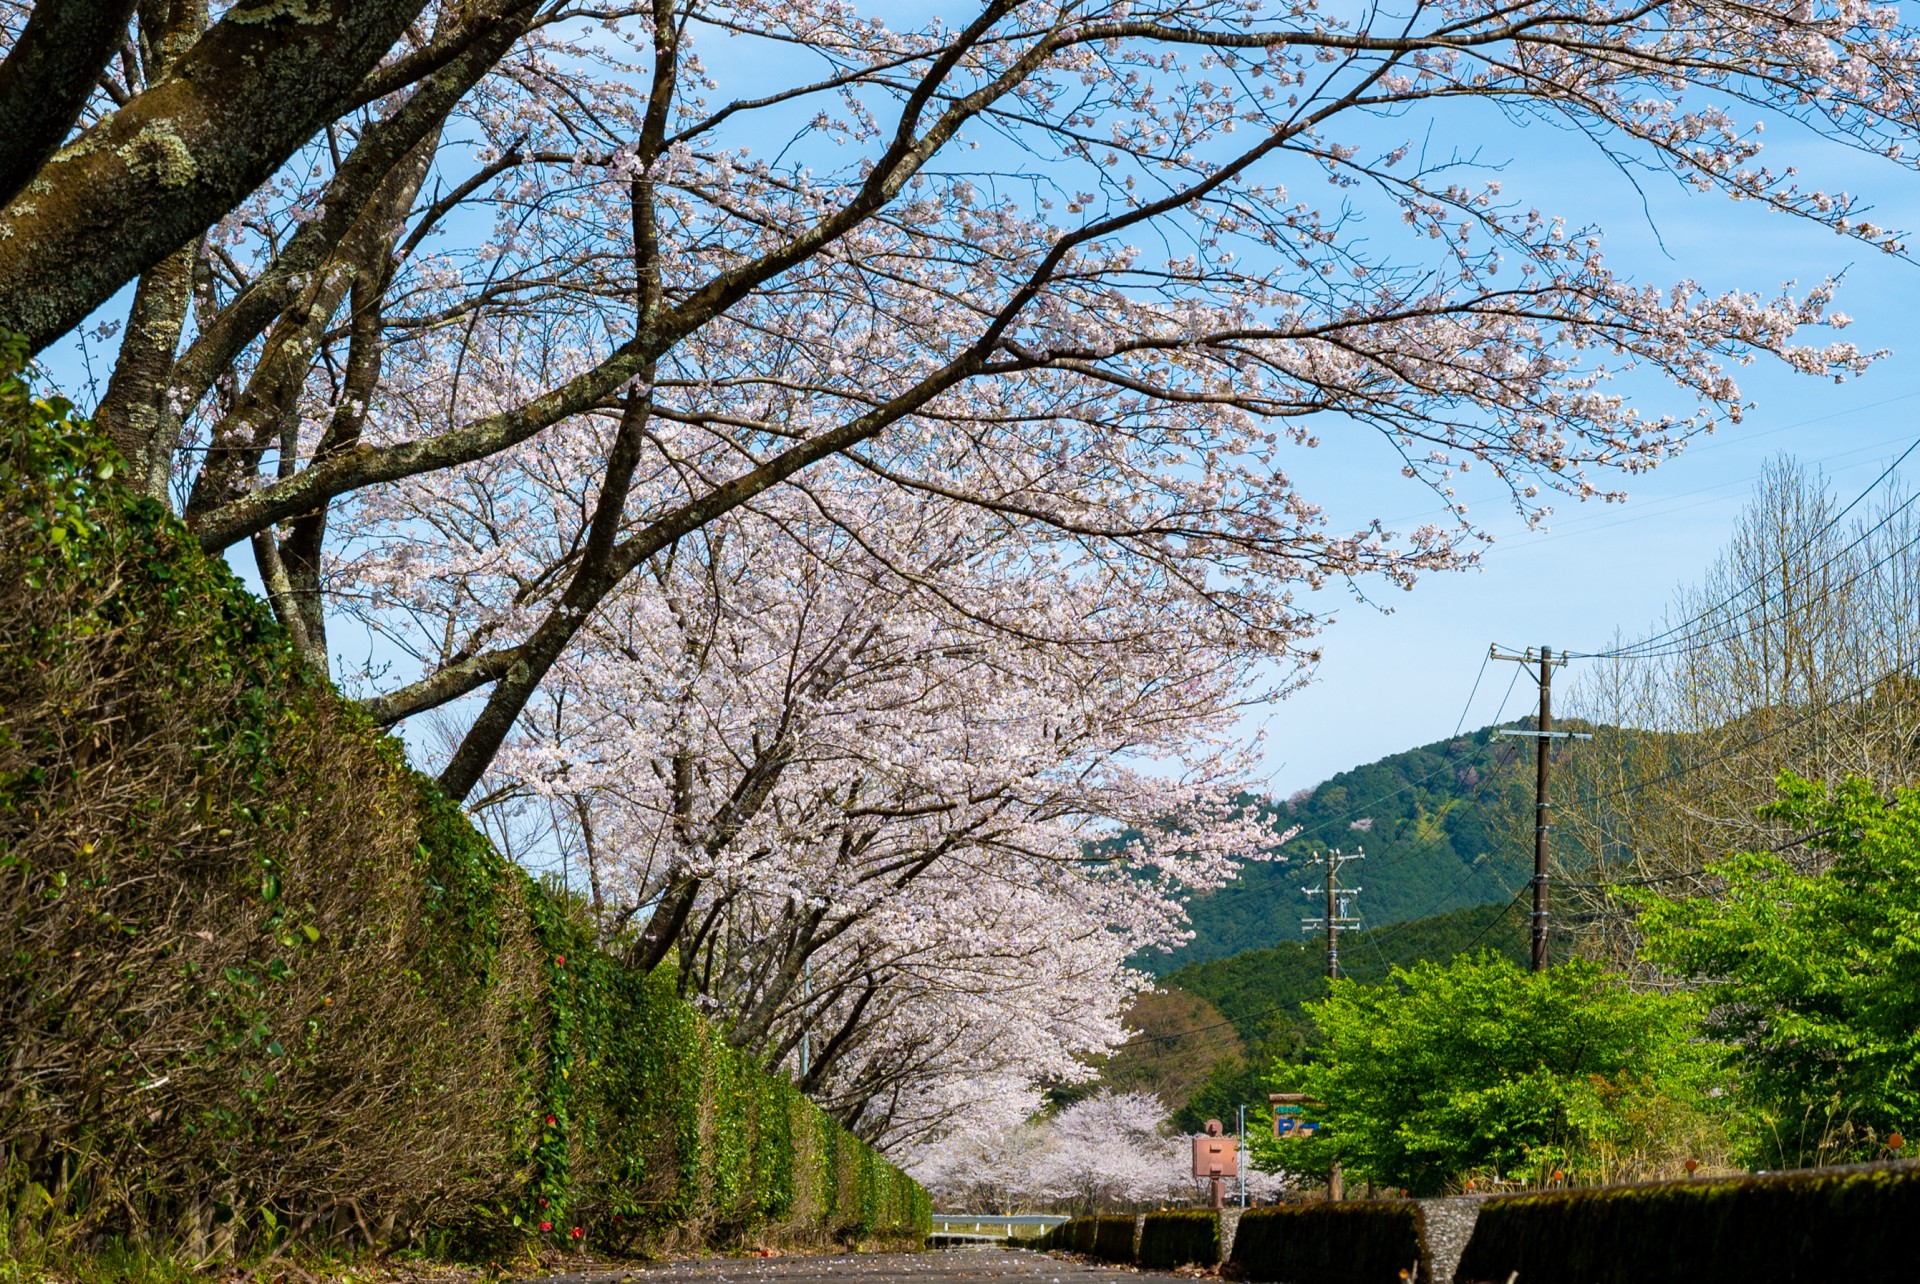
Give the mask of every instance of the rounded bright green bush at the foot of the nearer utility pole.
M 1334 981 L 1309 1006 L 1323 1044 L 1275 1084 L 1321 1102 L 1311 1140 L 1256 1142 L 1294 1171 L 1442 1194 L 1469 1175 L 1607 1180 L 1724 1148 L 1716 1050 L 1688 996 L 1630 990 L 1596 963 L 1526 973 L 1494 954 Z

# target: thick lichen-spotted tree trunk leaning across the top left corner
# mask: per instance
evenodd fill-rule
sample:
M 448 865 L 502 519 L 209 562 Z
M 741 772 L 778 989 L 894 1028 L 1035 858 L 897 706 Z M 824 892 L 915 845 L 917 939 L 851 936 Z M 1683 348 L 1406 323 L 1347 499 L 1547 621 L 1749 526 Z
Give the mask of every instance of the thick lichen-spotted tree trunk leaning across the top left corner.
M 182 246 L 346 113 L 470 88 L 538 2 L 447 4 L 426 23 L 426 0 L 211 8 L 0 6 L 0 328 L 35 349 L 142 273 L 157 273 L 142 278 L 152 305 L 180 278 Z M 363 134 L 361 159 L 382 171 L 430 113 L 397 115 Z M 278 267 L 315 265 L 292 253 Z

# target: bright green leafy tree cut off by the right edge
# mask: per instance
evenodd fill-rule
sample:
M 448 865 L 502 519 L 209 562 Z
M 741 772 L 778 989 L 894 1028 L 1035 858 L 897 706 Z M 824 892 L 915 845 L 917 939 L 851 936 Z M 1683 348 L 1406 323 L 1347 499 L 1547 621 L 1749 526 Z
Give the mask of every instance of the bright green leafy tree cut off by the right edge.
M 1920 1123 L 1920 791 L 1786 773 L 1763 816 L 1811 833 L 1818 871 L 1745 852 L 1707 868 L 1713 896 L 1642 892 L 1645 954 L 1703 987 L 1740 1050 L 1751 1159 L 1882 1157 Z

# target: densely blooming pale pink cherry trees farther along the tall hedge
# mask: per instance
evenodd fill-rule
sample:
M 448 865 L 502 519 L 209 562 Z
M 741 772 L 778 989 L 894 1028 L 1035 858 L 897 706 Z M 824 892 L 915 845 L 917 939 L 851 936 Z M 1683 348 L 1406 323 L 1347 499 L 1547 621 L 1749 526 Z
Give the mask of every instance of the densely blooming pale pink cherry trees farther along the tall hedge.
M 409 487 L 382 520 L 413 535 L 353 566 L 369 618 L 511 608 L 547 553 L 470 514 L 513 493 L 495 528 L 564 530 L 541 459 Z M 1181 898 L 1284 837 L 1229 747 L 1267 651 L 1221 620 L 829 466 L 624 585 L 478 810 L 543 810 L 609 939 L 862 1134 L 1031 1111 L 1125 1038 L 1127 960 L 1185 937 Z

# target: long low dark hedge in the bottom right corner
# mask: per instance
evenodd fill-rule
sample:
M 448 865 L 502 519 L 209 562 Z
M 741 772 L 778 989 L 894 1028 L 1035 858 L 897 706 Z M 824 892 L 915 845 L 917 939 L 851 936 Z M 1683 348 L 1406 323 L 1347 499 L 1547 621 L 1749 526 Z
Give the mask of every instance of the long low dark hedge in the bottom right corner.
M 1920 1165 L 1503 1196 L 1480 1207 L 1455 1280 L 1713 1284 L 1914 1274 Z

